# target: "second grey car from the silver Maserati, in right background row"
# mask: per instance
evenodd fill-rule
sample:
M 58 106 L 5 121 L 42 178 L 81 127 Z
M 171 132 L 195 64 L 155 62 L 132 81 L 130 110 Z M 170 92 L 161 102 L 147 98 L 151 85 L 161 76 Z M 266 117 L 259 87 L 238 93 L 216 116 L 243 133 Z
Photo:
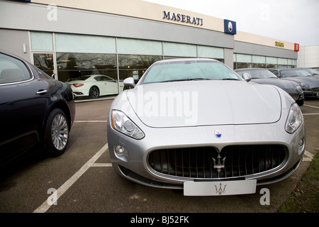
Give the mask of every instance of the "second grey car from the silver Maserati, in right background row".
M 271 70 L 277 77 L 296 82 L 303 89 L 303 94 L 306 97 L 319 97 L 319 79 L 313 77 L 305 70 L 300 69 L 279 69 Z

